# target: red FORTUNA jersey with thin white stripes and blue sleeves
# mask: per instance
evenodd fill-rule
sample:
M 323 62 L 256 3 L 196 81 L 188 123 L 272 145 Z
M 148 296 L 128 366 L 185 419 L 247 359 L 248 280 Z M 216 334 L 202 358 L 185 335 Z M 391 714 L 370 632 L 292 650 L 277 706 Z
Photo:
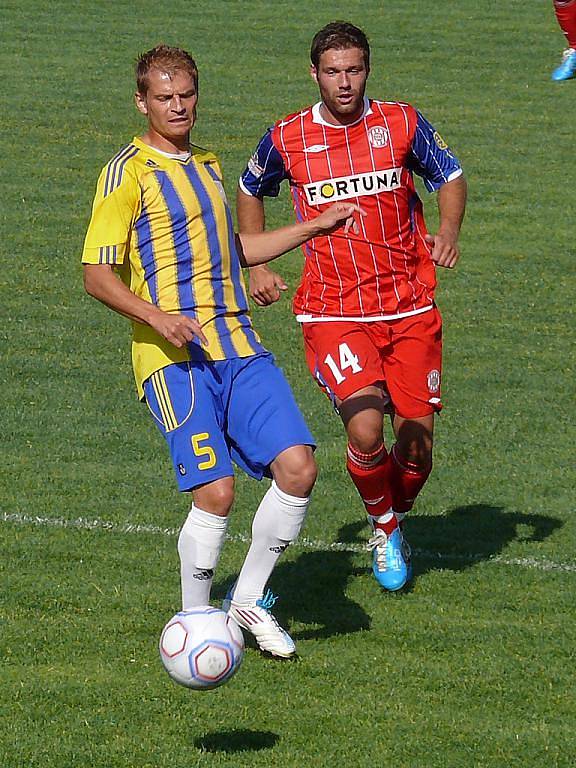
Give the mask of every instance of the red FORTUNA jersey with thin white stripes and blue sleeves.
M 413 173 L 429 191 L 462 173 L 446 143 L 409 104 L 365 99 L 351 125 L 332 125 L 321 103 L 279 120 L 261 139 L 240 188 L 275 197 L 288 180 L 298 220 L 350 200 L 367 215 L 359 235 L 342 230 L 302 246 L 293 308 L 318 318 L 390 319 L 432 306 L 435 267 Z

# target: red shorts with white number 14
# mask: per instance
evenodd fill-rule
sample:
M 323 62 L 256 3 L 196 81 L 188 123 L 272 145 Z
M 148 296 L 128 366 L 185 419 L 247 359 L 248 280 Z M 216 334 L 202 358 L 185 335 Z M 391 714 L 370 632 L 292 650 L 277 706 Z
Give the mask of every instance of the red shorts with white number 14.
M 442 318 L 434 307 L 398 320 L 302 323 L 310 372 L 334 401 L 382 383 L 406 419 L 440 411 Z

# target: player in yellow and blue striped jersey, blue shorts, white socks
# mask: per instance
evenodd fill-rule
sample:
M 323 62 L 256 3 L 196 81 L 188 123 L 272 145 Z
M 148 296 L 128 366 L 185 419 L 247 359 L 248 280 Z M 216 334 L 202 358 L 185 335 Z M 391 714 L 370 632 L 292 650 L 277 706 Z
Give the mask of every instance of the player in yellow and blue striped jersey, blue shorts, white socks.
M 147 131 L 100 175 L 84 284 L 133 321 L 139 397 L 166 438 L 180 490 L 193 495 L 178 540 L 184 609 L 210 598 L 234 498 L 232 461 L 272 478 L 227 607 L 261 649 L 288 657 L 294 642 L 264 592 L 304 521 L 316 479 L 314 440 L 252 328 L 241 265 L 265 263 L 339 226 L 356 228 L 360 211 L 338 204 L 312 222 L 235 235 L 218 160 L 190 144 L 194 60 L 157 46 L 140 57 L 136 76 Z

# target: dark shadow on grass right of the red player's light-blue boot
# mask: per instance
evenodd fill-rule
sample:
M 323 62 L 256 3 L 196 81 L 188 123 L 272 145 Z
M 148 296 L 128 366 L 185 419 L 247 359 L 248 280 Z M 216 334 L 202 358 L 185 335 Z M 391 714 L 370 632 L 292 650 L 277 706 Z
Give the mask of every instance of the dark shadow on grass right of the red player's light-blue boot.
M 550 515 L 508 512 L 489 504 L 455 507 L 438 517 L 406 518 L 412 545 L 414 576 L 442 568 L 462 571 L 501 555 L 514 541 L 544 541 L 563 522 Z

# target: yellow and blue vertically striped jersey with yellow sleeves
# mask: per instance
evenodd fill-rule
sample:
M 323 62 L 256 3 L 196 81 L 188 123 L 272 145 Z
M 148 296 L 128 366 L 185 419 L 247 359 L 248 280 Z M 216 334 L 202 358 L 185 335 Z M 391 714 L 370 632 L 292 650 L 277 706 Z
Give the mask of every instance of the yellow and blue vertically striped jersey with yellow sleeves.
M 130 290 L 166 312 L 196 318 L 208 346 L 178 349 L 133 323 L 138 394 L 155 371 L 185 360 L 264 352 L 252 328 L 232 216 L 214 154 L 175 159 L 135 138 L 104 167 L 82 262 L 111 264 Z

